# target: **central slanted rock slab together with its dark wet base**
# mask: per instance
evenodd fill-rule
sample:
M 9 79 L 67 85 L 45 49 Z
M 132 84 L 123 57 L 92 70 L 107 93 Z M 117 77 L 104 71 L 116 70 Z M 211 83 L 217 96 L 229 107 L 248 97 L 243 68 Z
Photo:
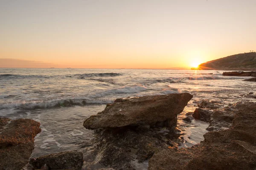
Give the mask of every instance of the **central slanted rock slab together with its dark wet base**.
M 101 164 L 115 170 L 135 170 L 133 162 L 142 163 L 154 153 L 176 146 L 172 139 L 179 134 L 172 127 L 191 98 L 183 93 L 116 99 L 84 121 L 86 128 L 99 128 L 95 130 L 95 161 L 84 166 L 89 169 L 90 164 Z

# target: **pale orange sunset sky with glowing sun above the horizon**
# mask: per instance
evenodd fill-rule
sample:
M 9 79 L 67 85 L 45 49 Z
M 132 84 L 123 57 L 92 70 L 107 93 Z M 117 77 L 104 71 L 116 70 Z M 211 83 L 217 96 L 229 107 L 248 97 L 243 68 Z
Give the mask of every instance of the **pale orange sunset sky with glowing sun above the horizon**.
M 0 67 L 191 68 L 256 51 L 256 0 L 0 0 Z

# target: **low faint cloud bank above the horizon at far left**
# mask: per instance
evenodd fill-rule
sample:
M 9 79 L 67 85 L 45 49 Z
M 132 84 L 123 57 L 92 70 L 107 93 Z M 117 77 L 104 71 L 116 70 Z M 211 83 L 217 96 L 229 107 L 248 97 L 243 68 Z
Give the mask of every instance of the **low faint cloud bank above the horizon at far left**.
M 25 59 L 0 59 L 0 68 L 50 68 L 56 66 L 52 63 Z

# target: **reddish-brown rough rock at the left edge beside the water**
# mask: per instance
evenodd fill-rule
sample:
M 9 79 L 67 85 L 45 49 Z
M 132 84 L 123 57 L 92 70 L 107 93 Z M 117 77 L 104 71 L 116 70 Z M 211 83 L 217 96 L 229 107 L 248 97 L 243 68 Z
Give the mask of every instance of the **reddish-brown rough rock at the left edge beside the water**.
M 41 132 L 40 123 L 32 119 L 9 121 L 0 118 L 0 169 L 20 170 L 29 161 L 34 137 Z

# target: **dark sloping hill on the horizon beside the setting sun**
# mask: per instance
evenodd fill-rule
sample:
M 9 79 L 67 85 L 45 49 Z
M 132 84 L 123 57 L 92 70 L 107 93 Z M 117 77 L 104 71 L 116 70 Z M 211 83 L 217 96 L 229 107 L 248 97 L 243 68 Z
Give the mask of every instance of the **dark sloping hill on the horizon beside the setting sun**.
M 200 64 L 198 68 L 191 69 L 256 71 L 256 52 L 235 54 L 215 59 Z

